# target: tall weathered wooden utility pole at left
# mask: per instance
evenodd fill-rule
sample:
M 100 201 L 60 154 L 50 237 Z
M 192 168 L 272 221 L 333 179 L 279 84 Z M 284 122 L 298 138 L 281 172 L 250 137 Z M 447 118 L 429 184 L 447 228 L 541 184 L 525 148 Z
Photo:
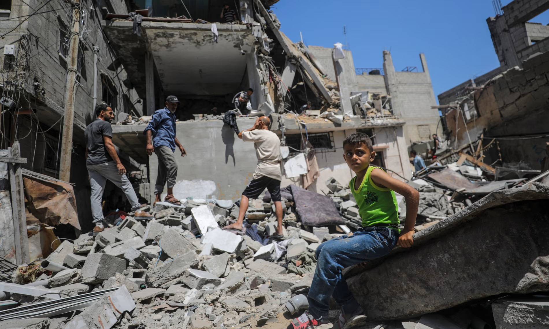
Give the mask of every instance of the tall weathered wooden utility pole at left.
M 63 118 L 63 140 L 61 141 L 61 156 L 59 179 L 70 180 L 70 162 L 72 156 L 72 125 L 74 122 L 74 94 L 76 84 L 76 67 L 78 65 L 78 43 L 80 36 L 80 0 L 72 3 L 72 28 L 69 38 L 69 55 L 67 61 L 67 79 L 65 84 L 65 111 Z

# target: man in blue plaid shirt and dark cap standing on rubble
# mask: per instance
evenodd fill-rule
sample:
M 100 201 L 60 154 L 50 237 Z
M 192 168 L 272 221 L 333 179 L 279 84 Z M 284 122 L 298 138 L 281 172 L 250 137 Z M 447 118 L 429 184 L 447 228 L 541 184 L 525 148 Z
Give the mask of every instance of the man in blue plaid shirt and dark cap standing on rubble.
M 153 114 L 144 134 L 147 135 L 147 155 L 153 152 L 158 157 L 158 174 L 156 175 L 156 185 L 154 186 L 154 203 L 160 201 L 160 195 L 164 191 L 164 185 L 167 182 L 168 194 L 164 201 L 173 205 L 181 205 L 181 202 L 173 196 L 173 185 L 177 178 L 177 163 L 173 152 L 177 146 L 181 151 L 181 156 L 187 155 L 183 145 L 179 143 L 176 137 L 175 111 L 179 100 L 175 96 L 166 98 L 166 107 L 157 110 Z

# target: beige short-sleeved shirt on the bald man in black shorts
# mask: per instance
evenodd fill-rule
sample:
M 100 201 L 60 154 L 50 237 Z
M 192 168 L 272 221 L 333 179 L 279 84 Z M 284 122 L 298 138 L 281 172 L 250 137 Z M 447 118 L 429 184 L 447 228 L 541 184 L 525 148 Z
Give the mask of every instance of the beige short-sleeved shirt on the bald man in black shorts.
M 253 131 L 242 132 L 242 139 L 254 142 L 257 168 L 253 179 L 267 176 L 272 179 L 282 180 L 280 139 L 277 134 L 267 129 L 254 129 Z

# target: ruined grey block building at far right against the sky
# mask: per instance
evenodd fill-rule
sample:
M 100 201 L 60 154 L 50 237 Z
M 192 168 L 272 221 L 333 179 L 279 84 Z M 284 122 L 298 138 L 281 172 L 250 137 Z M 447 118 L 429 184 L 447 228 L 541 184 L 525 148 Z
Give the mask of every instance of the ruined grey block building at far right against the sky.
M 549 27 L 529 21 L 547 9 L 549 1 L 516 0 L 487 19 L 500 67 L 438 97 L 446 143 L 483 139 L 498 178 L 539 173 L 547 156 Z

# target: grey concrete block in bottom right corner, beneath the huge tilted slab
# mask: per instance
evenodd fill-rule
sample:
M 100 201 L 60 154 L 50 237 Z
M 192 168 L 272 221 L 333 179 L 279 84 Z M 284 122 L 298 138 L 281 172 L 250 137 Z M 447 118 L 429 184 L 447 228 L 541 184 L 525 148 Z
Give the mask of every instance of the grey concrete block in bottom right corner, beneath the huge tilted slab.
M 496 329 L 549 327 L 549 298 L 506 297 L 492 304 Z

